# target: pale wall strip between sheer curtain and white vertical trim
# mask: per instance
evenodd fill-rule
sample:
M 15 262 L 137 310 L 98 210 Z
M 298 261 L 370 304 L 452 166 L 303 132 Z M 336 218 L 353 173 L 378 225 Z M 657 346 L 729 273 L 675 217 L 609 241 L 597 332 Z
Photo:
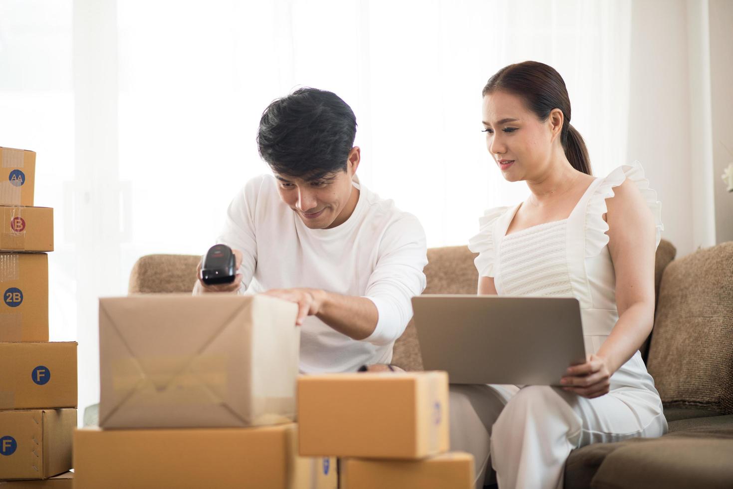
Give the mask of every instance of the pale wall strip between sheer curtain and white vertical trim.
M 644 166 L 662 202 L 662 237 L 677 256 L 697 243 L 690 168 L 690 84 L 684 0 L 633 1 L 627 159 Z

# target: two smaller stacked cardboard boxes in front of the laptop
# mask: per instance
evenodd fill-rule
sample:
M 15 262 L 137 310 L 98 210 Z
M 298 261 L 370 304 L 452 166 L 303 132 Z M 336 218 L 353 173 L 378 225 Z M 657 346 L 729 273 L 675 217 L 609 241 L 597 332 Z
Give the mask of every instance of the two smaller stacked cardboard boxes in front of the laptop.
M 342 457 L 343 489 L 474 487 L 474 457 L 449 449 L 446 372 L 298 379 L 300 455 Z

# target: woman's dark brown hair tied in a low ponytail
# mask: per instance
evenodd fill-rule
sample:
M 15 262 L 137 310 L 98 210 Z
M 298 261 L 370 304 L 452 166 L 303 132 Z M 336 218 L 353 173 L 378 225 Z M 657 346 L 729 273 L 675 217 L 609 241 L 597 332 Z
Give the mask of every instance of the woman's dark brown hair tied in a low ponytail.
M 509 65 L 498 70 L 489 78 L 481 92 L 487 93 L 504 90 L 523 98 L 528 109 L 545 122 L 550 111 L 560 109 L 563 114 L 560 142 L 565 156 L 573 168 L 579 172 L 592 174 L 591 161 L 586 143 L 578 130 L 570 125 L 570 98 L 560 73 L 555 68 L 536 61 L 526 61 Z

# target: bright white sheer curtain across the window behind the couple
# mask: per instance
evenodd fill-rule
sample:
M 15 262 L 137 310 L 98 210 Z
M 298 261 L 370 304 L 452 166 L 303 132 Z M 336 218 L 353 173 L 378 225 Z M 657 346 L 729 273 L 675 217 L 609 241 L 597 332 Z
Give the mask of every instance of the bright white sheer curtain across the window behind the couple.
M 523 199 L 490 161 L 481 89 L 534 59 L 564 77 L 594 174 L 623 163 L 629 1 L 0 0 L 0 146 L 36 150 L 56 207 L 51 339 L 97 402 L 97 298 L 149 253 L 202 254 L 256 174 L 262 109 L 295 87 L 352 106 L 361 182 L 464 244 Z

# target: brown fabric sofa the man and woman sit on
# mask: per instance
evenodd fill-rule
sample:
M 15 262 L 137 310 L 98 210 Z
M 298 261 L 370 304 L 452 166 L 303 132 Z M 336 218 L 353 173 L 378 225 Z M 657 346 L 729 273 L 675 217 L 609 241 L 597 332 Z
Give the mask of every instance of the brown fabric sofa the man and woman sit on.
M 575 449 L 564 487 L 733 488 L 733 242 L 674 260 L 662 240 L 655 263 L 655 325 L 641 348 L 662 397 L 669 433 Z M 474 294 L 478 275 L 465 246 L 429 249 L 426 294 Z M 196 255 L 141 257 L 129 292 L 191 291 Z M 421 370 L 410 322 L 393 364 Z

